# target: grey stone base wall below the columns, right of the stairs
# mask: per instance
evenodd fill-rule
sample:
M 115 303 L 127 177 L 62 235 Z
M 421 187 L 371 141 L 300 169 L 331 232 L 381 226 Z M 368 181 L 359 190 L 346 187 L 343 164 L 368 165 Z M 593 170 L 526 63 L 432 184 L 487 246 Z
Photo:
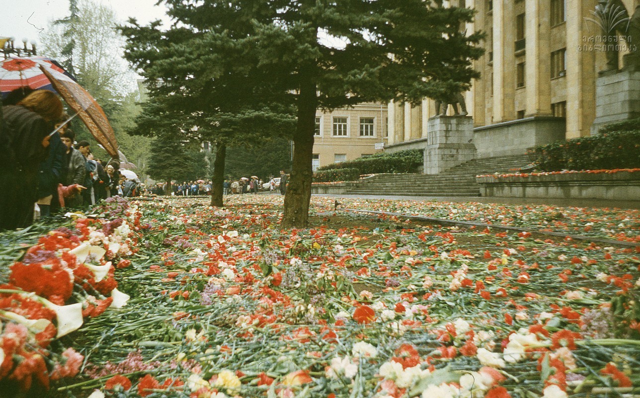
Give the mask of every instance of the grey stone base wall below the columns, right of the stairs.
M 564 140 L 563 118 L 535 116 L 474 129 L 478 158 L 526 154 L 527 149 Z

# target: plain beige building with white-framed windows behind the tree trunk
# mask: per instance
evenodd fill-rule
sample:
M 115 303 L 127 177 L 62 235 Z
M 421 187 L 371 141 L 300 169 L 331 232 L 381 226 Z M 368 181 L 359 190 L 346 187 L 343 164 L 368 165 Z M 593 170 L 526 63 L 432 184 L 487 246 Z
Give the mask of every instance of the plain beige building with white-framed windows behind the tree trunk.
M 314 171 L 331 163 L 380 152 L 387 144 L 387 105 L 364 103 L 333 112 L 316 111 Z

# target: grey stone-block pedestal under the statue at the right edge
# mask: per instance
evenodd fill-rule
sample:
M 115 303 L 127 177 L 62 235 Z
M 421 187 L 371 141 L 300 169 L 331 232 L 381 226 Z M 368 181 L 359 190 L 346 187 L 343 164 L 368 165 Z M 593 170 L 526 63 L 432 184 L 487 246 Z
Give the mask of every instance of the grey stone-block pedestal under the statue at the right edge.
M 591 135 L 605 124 L 640 117 L 640 71 L 612 70 L 596 79 L 596 119 Z

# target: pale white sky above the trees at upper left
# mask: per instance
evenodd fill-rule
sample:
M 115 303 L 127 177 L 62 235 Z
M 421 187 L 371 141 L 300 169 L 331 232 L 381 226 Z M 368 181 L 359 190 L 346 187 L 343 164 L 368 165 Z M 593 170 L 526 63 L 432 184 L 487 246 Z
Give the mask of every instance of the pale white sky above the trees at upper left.
M 93 0 L 93 2 L 113 8 L 122 22 L 129 17 L 134 17 L 143 24 L 154 19 L 168 21 L 164 14 L 164 5 L 154 5 L 157 0 Z M 0 0 L 0 37 L 15 38 L 16 47 L 22 47 L 23 38 L 28 42 L 35 41 L 38 46 L 39 34 L 43 29 L 47 29 L 49 21 L 61 19 L 68 13 L 68 0 Z

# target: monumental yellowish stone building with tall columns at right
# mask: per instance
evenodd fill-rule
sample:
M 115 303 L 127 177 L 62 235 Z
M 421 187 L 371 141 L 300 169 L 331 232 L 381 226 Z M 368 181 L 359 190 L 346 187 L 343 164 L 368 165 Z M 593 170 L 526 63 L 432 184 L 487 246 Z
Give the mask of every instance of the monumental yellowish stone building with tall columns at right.
M 473 132 L 465 137 L 476 147 L 474 156 L 524 154 L 534 145 L 584 137 L 607 122 L 640 117 L 640 72 L 623 61 L 632 44 L 640 47 L 640 37 L 627 36 L 638 24 L 640 0 L 449 3 L 474 8 L 475 22 L 465 28 L 486 33 L 486 52 L 474 63 L 481 78 L 464 93 L 473 120 Z M 605 28 L 612 28 L 608 35 Z M 391 103 L 388 115 L 387 151 L 429 145 L 433 101 L 416 107 Z

